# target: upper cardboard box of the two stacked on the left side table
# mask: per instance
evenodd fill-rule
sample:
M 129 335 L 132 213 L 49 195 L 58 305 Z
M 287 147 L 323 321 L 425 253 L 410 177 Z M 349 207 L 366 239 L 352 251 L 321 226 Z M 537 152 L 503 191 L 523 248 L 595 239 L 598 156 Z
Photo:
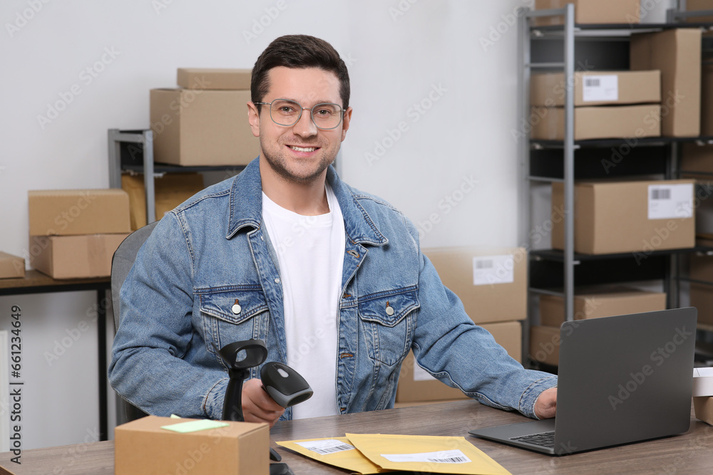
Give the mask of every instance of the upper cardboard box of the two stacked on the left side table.
M 34 190 L 27 195 L 31 236 L 131 231 L 129 197 L 121 189 Z

